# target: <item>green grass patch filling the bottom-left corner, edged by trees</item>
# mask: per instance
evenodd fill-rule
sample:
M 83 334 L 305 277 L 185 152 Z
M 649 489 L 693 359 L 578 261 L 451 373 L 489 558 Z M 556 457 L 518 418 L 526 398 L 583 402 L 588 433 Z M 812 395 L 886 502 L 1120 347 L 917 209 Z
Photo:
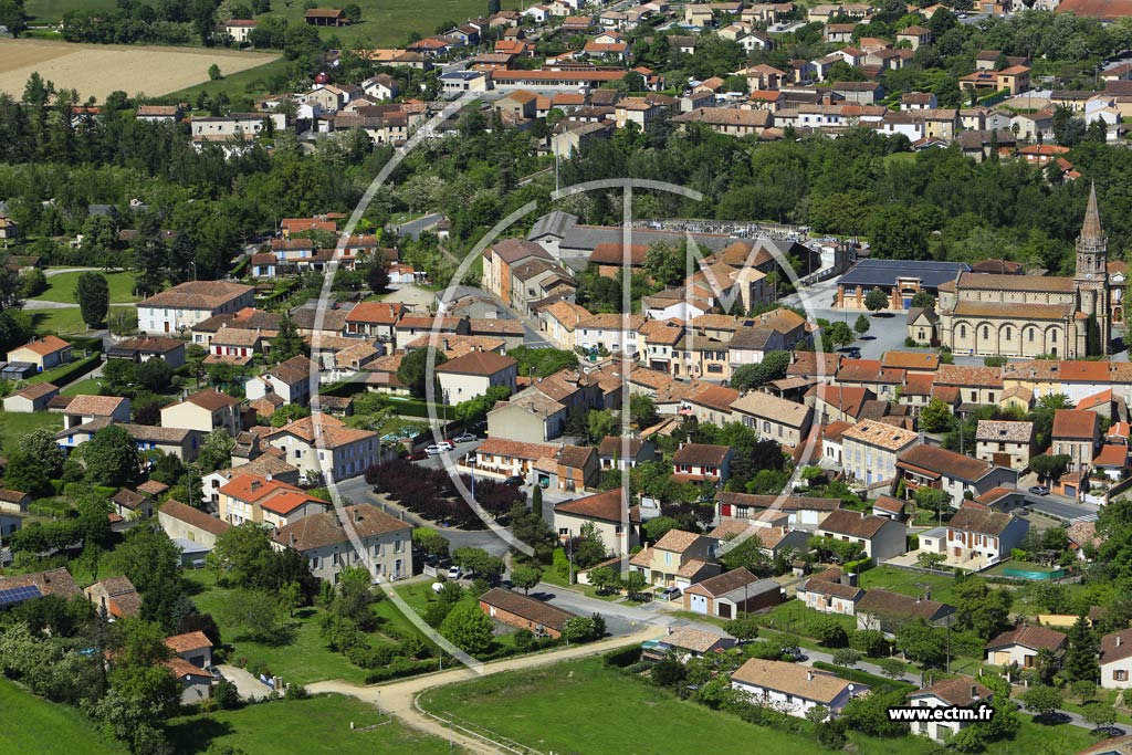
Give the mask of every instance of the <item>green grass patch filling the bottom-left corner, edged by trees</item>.
M 0 677 L 0 753 L 36 755 L 123 755 L 125 747 L 103 741 L 91 722 L 66 705 L 36 697 Z

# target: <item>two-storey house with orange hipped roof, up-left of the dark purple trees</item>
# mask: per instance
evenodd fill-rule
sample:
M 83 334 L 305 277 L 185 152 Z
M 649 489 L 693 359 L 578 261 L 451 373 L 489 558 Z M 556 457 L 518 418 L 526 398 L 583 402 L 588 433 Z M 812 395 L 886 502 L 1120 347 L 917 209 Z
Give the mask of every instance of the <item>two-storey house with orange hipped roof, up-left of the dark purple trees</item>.
M 328 472 L 344 480 L 381 461 L 376 432 L 348 428 L 342 420 L 323 413 L 284 424 L 267 436 L 267 444 L 283 451 L 286 461 L 308 478 Z

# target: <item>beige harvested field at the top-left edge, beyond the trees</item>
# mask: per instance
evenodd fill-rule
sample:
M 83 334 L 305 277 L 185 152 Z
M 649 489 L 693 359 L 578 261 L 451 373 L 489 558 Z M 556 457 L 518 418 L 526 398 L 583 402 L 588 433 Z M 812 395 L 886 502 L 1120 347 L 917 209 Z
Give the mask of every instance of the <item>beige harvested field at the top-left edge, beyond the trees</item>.
M 19 97 L 27 78 L 38 71 L 58 88 L 78 89 L 80 100 L 102 101 L 115 89 L 157 96 L 208 80 L 213 63 L 228 76 L 276 58 L 234 50 L 0 40 L 0 92 Z

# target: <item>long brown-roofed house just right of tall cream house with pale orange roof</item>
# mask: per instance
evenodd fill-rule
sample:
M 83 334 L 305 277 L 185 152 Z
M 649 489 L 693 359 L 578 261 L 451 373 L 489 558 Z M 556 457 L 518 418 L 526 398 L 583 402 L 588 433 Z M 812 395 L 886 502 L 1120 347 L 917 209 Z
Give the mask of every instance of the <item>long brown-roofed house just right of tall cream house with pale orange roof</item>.
M 927 444 L 902 452 L 897 457 L 897 473 L 909 499 L 919 488 L 935 488 L 946 492 L 955 507 L 968 494 L 977 498 L 994 488 L 1018 484 L 1018 472 L 1013 469 Z

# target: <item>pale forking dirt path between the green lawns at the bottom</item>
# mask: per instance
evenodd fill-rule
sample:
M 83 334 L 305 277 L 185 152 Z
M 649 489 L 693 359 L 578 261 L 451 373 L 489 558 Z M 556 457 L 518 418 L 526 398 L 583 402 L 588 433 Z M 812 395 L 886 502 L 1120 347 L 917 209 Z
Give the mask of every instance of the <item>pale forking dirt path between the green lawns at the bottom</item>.
M 469 681 L 477 679 L 480 676 L 537 668 L 540 666 L 548 666 L 550 663 L 559 663 L 561 661 L 597 655 L 610 650 L 625 647 L 627 645 L 659 637 L 663 634 L 663 632 L 664 630 L 660 627 L 650 626 L 644 627 L 640 632 L 632 635 L 610 637 L 609 640 L 602 640 L 601 642 L 589 645 L 573 645 L 571 647 L 561 647 L 548 653 L 495 661 L 483 666 L 481 674 L 477 674 L 466 667 L 460 667 L 449 671 L 439 671 L 427 676 L 389 681 L 387 684 L 372 687 L 360 687 L 358 685 L 342 681 L 341 679 L 334 679 L 331 681 L 319 681 L 308 685 L 307 689 L 312 693 L 333 692 L 341 695 L 350 695 L 352 697 L 357 697 L 358 700 L 372 703 L 386 713 L 397 717 L 401 721 L 412 728 L 430 733 L 435 737 L 440 737 L 447 741 L 454 741 L 470 753 L 477 753 L 480 755 L 520 753 L 522 750 L 508 747 L 503 743 L 494 741 L 479 735 L 473 735 L 470 731 L 461 731 L 458 728 L 454 729 L 452 726 L 446 726 L 445 722 L 432 718 L 418 706 L 418 696 L 427 689 L 435 689 L 437 687 L 444 687 L 460 681 Z

